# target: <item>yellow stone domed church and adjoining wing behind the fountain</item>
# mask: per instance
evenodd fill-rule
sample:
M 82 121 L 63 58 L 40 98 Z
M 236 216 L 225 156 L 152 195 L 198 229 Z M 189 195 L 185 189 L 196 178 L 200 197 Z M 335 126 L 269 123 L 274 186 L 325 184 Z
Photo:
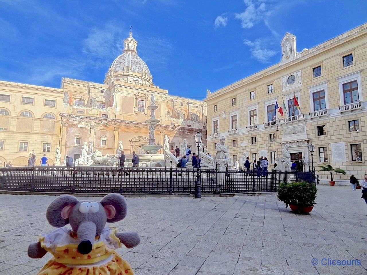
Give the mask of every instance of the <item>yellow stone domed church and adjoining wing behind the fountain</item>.
M 62 159 L 66 154 L 76 159 L 84 142 L 103 154 L 116 154 L 122 141 L 126 154 L 139 154 L 140 146 L 149 142 L 144 121 L 150 118 L 152 94 L 158 106 L 155 116 L 161 120 L 155 127 L 156 143 L 163 144 L 167 134 L 171 148 L 183 139 L 193 145 L 198 131 L 205 139 L 206 103 L 171 96 L 155 86 L 137 55 L 137 44 L 130 32 L 103 84 L 62 78 L 61 88 L 55 89 L 0 81 L 0 160 L 26 165 L 34 150 L 37 163 L 45 153 L 52 165 L 57 147 Z

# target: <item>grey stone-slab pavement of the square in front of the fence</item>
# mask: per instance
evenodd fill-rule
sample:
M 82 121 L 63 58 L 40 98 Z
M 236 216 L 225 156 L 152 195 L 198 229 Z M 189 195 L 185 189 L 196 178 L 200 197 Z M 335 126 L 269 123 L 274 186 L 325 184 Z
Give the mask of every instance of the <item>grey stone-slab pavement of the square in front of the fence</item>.
M 292 213 L 275 194 L 127 198 L 127 217 L 111 225 L 139 232 L 141 244 L 117 252 L 137 275 L 367 274 L 367 206 L 360 191 L 317 188 L 310 215 Z M 54 230 L 45 217 L 54 198 L 0 194 L 0 275 L 36 274 L 51 258 L 31 259 L 26 251 L 40 233 Z M 323 265 L 323 258 L 356 258 L 361 265 Z

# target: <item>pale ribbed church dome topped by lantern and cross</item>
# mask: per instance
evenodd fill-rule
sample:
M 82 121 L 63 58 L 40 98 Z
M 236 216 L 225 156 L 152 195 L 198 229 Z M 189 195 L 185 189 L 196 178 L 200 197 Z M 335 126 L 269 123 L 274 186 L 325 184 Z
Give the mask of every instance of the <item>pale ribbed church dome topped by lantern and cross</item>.
M 154 85 L 148 66 L 138 56 L 137 44 L 130 31 L 129 37 L 124 40 L 122 54 L 117 56 L 106 73 L 105 84 L 109 84 L 112 80 L 120 80 Z

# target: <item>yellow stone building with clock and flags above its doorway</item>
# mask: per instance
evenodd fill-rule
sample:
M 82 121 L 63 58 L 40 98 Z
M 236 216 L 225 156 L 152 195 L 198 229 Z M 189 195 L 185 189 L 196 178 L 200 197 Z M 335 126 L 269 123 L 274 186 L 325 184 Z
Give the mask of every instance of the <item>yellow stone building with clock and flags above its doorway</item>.
M 321 179 L 330 179 L 319 172 L 321 164 L 346 170 L 346 176 L 334 173 L 335 179 L 351 174 L 362 179 L 367 171 L 366 44 L 367 24 L 301 52 L 287 33 L 279 63 L 208 92 L 208 151 L 225 136 L 234 162 L 242 164 L 247 154 L 252 161 L 264 155 L 273 168 L 290 144 L 291 160 L 308 170 L 312 143 Z M 276 103 L 285 109 L 283 116 Z

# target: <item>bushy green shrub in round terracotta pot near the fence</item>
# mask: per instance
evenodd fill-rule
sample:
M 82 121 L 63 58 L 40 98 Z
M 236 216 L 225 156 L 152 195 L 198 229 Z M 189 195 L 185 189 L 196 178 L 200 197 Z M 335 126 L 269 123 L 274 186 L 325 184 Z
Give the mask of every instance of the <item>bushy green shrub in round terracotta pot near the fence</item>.
M 277 197 L 286 203 L 293 212 L 309 213 L 315 205 L 317 189 L 315 184 L 307 181 L 282 183 L 277 190 Z

